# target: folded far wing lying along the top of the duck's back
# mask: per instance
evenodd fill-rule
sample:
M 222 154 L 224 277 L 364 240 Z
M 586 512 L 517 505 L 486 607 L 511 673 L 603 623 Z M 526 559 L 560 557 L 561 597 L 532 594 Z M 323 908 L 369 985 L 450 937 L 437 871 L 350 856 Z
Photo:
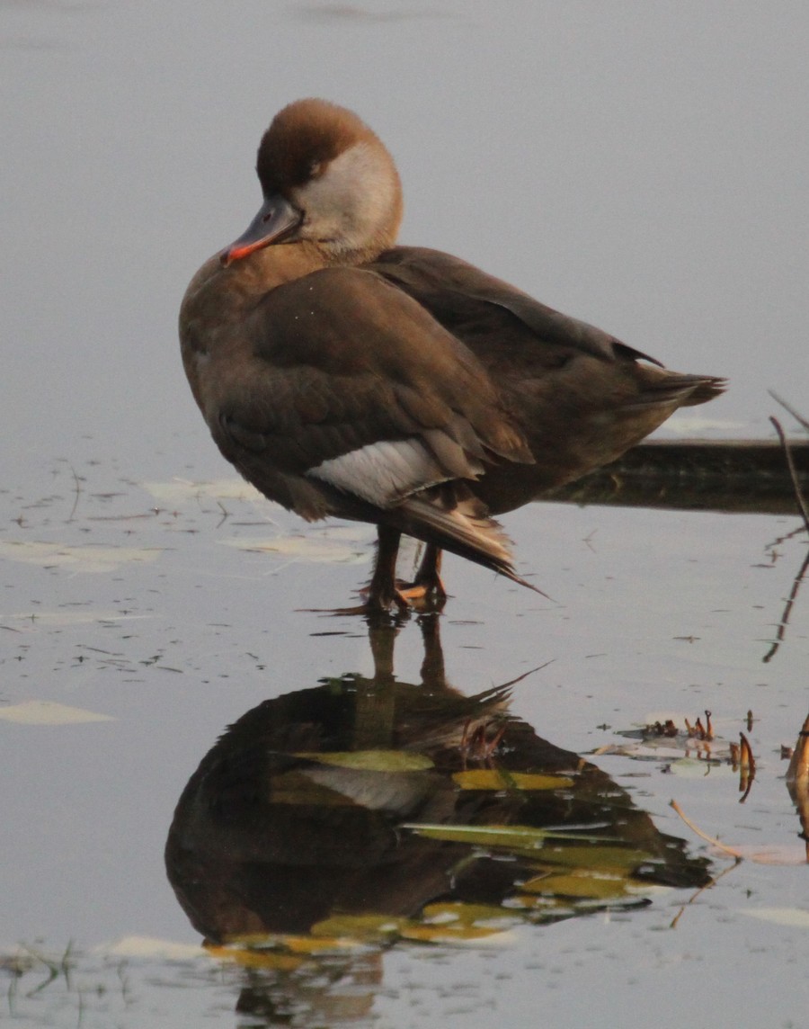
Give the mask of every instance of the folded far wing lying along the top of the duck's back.
M 418 300 L 450 331 L 476 345 L 485 346 L 495 336 L 502 350 L 511 335 L 519 336 L 523 345 L 578 351 L 604 361 L 642 359 L 660 364 L 609 332 L 554 311 L 451 254 L 427 247 L 394 247 L 368 267 Z

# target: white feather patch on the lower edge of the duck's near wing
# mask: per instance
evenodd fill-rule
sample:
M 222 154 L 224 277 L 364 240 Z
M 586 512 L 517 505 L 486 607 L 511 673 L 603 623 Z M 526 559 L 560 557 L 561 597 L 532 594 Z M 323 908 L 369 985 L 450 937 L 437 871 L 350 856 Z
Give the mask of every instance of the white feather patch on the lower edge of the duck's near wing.
M 377 507 L 391 507 L 417 490 L 451 477 L 417 439 L 369 443 L 324 461 L 306 475 L 369 500 Z

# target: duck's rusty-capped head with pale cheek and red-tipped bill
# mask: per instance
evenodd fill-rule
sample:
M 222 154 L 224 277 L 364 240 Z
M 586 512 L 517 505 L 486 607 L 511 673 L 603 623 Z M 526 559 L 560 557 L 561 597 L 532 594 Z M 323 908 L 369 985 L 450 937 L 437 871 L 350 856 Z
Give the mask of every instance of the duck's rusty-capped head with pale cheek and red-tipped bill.
M 327 263 L 360 264 L 396 241 L 402 187 L 393 157 L 352 111 L 297 100 L 258 148 L 264 203 L 222 252 L 223 264 L 277 243 L 307 241 Z

